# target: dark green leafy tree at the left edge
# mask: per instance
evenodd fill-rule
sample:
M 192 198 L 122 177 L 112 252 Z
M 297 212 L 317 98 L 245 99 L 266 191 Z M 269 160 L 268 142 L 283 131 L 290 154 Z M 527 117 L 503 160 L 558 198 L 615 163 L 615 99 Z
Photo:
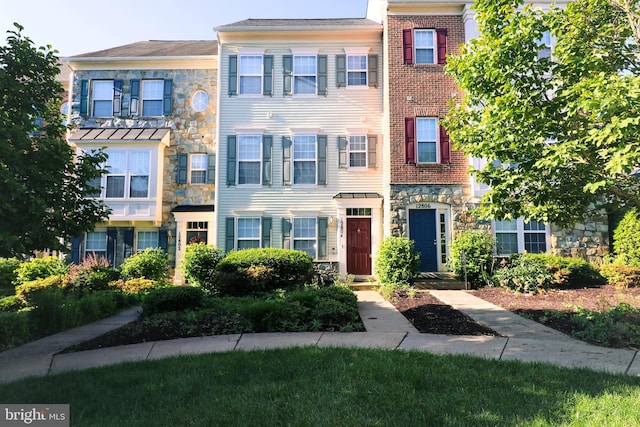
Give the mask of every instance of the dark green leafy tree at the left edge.
M 35 48 L 14 25 L 0 46 L 0 257 L 64 249 L 108 215 L 87 197 L 105 154 L 76 157 L 64 138 L 56 51 Z

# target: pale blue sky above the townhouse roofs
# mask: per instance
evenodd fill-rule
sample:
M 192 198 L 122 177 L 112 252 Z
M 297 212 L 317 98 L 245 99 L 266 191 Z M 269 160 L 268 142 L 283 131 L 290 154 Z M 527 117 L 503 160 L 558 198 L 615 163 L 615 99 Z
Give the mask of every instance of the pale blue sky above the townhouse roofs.
M 0 0 L 0 44 L 13 23 L 71 56 L 142 40 L 214 40 L 247 18 L 364 18 L 367 0 Z

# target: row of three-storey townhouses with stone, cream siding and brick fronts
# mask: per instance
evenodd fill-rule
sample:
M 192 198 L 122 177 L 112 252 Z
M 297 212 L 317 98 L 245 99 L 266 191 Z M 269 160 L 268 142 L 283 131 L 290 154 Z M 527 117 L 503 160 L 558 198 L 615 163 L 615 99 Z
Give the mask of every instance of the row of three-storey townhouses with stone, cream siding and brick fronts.
M 162 247 L 181 281 L 189 243 L 294 248 L 370 277 L 404 235 L 446 271 L 462 230 L 498 253 L 598 257 L 606 218 L 559 229 L 469 214 L 486 188 L 441 118 L 463 96 L 447 55 L 475 36 L 470 3 L 370 0 L 367 18 L 248 19 L 217 41 L 148 41 L 66 58 L 70 144 L 106 147 L 112 213 L 72 242 L 119 265 Z

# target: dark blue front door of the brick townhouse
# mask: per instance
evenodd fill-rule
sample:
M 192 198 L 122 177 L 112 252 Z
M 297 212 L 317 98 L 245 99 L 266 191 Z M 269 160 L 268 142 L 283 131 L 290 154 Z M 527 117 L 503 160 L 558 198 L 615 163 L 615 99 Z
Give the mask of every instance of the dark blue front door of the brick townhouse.
M 409 210 L 409 238 L 420 254 L 420 271 L 438 271 L 436 210 Z

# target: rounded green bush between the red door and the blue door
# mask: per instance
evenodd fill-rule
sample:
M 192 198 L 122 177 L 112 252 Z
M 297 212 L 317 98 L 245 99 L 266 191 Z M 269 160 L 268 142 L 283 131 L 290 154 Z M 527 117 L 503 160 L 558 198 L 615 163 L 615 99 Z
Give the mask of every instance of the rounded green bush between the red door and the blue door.
M 374 268 L 379 283 L 398 288 L 410 286 L 419 269 L 420 255 L 415 251 L 413 240 L 406 237 L 384 239 L 378 248 Z

